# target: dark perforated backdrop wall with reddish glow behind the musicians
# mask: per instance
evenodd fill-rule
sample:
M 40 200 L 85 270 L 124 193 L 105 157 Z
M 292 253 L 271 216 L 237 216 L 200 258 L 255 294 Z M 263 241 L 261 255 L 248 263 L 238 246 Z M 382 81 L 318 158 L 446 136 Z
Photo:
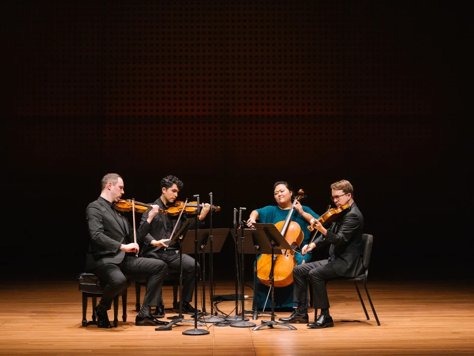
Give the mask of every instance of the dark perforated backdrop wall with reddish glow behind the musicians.
M 5 209 L 2 264 L 25 278 L 74 278 L 85 207 L 116 172 L 125 197 L 141 201 L 155 200 L 168 174 L 184 181 L 183 200 L 212 191 L 222 206 L 214 227 L 231 227 L 233 208 L 247 217 L 273 204 L 281 179 L 321 214 L 329 185 L 346 178 L 374 234 L 375 278 L 450 275 L 438 263 L 459 251 L 440 249 L 449 229 L 432 221 L 457 204 L 460 173 L 440 162 L 457 144 L 466 95 L 453 36 L 462 11 L 446 6 L 10 4 L 2 182 L 26 206 Z M 233 278 L 232 256 L 229 241 L 217 278 Z

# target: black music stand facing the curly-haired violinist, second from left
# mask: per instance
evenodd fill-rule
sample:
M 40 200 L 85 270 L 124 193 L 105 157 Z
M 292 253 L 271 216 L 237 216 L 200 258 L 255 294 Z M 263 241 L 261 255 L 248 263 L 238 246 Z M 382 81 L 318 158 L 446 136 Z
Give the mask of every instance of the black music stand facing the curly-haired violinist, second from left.
M 199 313 L 199 316 L 197 317 L 198 319 L 201 319 L 204 316 L 210 316 L 208 318 L 204 317 L 202 321 L 204 322 L 220 322 L 225 320 L 224 315 L 219 315 L 217 312 L 214 312 L 214 304 L 213 304 L 213 278 L 212 278 L 212 273 L 213 273 L 213 261 L 212 259 L 209 259 L 209 268 L 211 270 L 210 274 L 210 297 L 211 297 L 211 312 L 208 313 L 206 312 L 206 269 L 205 269 L 205 254 L 209 253 L 212 254 L 213 252 L 220 252 L 222 249 L 222 246 L 224 245 L 224 241 L 226 240 L 227 235 L 229 234 L 230 229 L 229 228 L 218 228 L 218 229 L 201 229 L 197 233 L 197 246 L 199 252 L 202 254 L 202 312 Z M 194 230 L 189 230 L 188 234 L 195 233 Z M 212 251 L 211 251 L 211 246 L 207 243 L 208 239 L 211 237 L 212 233 L 212 238 L 213 238 L 213 244 L 212 244 Z M 216 238 L 217 241 L 214 240 Z M 217 242 L 217 243 L 216 243 Z M 187 243 L 184 244 L 185 246 L 183 247 L 185 251 L 187 250 Z

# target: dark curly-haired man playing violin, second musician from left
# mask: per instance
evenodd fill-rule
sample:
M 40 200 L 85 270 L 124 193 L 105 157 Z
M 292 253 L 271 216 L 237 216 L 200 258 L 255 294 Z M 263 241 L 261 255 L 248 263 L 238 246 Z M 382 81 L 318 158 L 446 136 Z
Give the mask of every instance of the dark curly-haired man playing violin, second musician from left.
M 178 192 L 183 189 L 183 182 L 174 177 L 167 176 L 161 179 L 160 182 L 161 195 L 153 203 L 158 205 L 161 209 L 167 210 L 169 206 L 172 206 L 178 197 Z M 199 215 L 199 221 L 204 220 L 207 213 L 209 212 L 210 205 L 203 204 Z M 164 242 L 168 241 L 172 236 L 173 229 L 177 231 L 181 225 L 188 219 L 186 212 L 183 212 L 181 218 L 179 216 L 169 216 L 159 214 L 151 219 L 151 229 L 148 235 L 145 237 L 142 254 L 143 257 L 153 258 L 158 261 L 163 261 L 170 269 L 179 270 L 180 259 L 178 254 L 178 244 L 173 244 L 164 249 L 167 245 Z M 147 223 L 150 219 L 149 210 L 142 215 L 141 224 Z M 176 226 L 176 227 L 175 227 Z M 195 223 L 190 224 L 191 228 L 195 226 Z M 183 291 L 182 291 L 182 311 L 183 313 L 193 314 L 196 312 L 194 307 L 190 304 L 193 300 L 193 292 L 195 285 L 195 261 L 189 255 L 182 255 L 183 272 L 186 273 L 186 279 L 184 280 Z M 199 265 L 198 265 L 199 266 Z M 197 310 L 199 313 L 200 311 Z M 157 309 L 154 314 L 157 318 L 164 316 L 164 304 L 161 299 L 160 303 L 157 304 Z

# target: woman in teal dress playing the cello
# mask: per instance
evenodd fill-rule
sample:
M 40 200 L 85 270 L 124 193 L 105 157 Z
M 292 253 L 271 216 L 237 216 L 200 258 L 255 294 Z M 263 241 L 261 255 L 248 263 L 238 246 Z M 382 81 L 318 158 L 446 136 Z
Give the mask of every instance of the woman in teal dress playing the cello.
M 276 224 L 286 219 L 289 210 L 293 205 L 291 200 L 293 196 L 293 190 L 287 182 L 278 181 L 274 185 L 274 194 L 277 205 L 269 205 L 264 208 L 252 211 L 250 213 L 250 217 L 247 219 L 247 226 L 253 227 L 253 223 L 255 223 L 256 220 L 259 220 L 260 223 Z M 291 216 L 291 221 L 298 223 L 301 227 L 301 230 L 303 231 L 304 238 L 300 246 L 304 246 L 309 243 L 311 232 L 307 227 L 313 218 L 317 219 L 319 218 L 319 215 L 317 215 L 307 206 L 301 205 L 300 202 L 296 203 Z M 296 264 L 301 265 L 303 263 L 310 262 L 311 256 L 311 253 L 307 253 L 305 256 L 302 256 L 300 253 L 295 252 Z M 258 310 L 269 310 L 272 307 L 271 296 L 269 296 L 267 300 L 269 290 L 269 287 L 263 285 L 260 280 L 257 279 L 256 294 Z M 275 288 L 275 308 L 281 312 L 284 312 L 291 311 L 293 307 L 296 307 L 296 303 L 293 303 L 293 283 L 286 287 Z M 255 308 L 255 305 L 253 308 Z

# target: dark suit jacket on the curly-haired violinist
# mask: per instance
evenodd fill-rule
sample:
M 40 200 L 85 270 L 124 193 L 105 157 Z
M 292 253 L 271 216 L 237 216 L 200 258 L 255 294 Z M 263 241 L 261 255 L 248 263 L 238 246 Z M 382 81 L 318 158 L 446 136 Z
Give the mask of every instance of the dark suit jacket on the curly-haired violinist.
M 152 204 L 158 205 L 163 210 L 166 209 L 166 207 L 164 206 L 164 204 L 163 204 L 163 202 L 161 201 L 160 198 L 155 200 L 155 202 L 153 202 Z M 141 224 L 146 223 L 146 220 L 148 219 L 148 213 L 150 212 L 150 210 L 151 210 L 151 208 L 148 208 L 148 210 L 145 213 L 142 214 Z M 159 241 L 159 240 L 162 240 L 162 239 L 171 238 L 171 232 L 173 231 L 173 229 L 171 229 L 171 230 L 168 229 L 167 219 L 169 219 L 169 217 L 165 216 L 164 214 L 157 214 L 153 218 L 152 223 L 150 224 L 151 228 L 149 230 L 149 233 L 145 236 L 145 238 L 143 240 L 143 245 L 140 246 L 140 256 L 147 257 L 147 256 L 149 256 L 150 253 L 155 253 L 160 248 L 162 248 L 162 247 L 157 247 L 157 246 L 151 245 L 150 242 L 152 242 L 153 240 Z M 188 219 L 188 217 L 186 216 L 186 213 L 183 212 L 183 215 L 181 215 L 181 219 L 179 220 L 179 223 L 176 226 L 176 231 L 178 231 L 178 229 L 181 227 L 181 225 L 187 219 Z M 192 218 L 192 219 L 195 220 L 194 218 Z M 174 223 L 176 223 L 175 220 L 173 220 L 171 222 L 173 227 L 174 227 Z M 199 227 L 201 227 L 202 225 L 203 225 L 203 223 L 199 221 Z M 141 225 L 140 225 L 140 227 L 141 227 Z M 190 228 L 196 228 L 196 222 L 195 221 L 190 223 Z M 177 246 L 177 245 L 175 245 L 175 246 Z

